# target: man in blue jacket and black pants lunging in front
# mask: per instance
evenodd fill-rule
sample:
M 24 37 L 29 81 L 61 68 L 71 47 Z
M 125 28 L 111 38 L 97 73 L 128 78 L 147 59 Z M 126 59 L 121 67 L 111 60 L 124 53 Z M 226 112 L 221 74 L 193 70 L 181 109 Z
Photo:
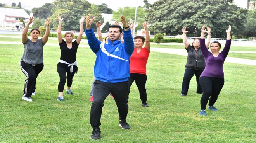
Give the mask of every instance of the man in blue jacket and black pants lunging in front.
M 131 127 L 126 122 L 128 114 L 128 78 L 130 77 L 130 57 L 134 50 L 131 30 L 127 26 L 125 17 L 121 16 L 123 29 L 119 25 L 111 25 L 108 28 L 108 43 L 99 41 L 91 27 L 91 16 L 86 18 L 85 33 L 88 44 L 96 54 L 94 65 L 93 102 L 91 107 L 90 123 L 93 128 L 92 139 L 100 138 L 100 117 L 104 100 L 111 92 L 119 113 L 119 126 L 123 129 Z M 122 33 L 123 32 L 123 33 Z M 123 36 L 124 42 L 120 38 Z

